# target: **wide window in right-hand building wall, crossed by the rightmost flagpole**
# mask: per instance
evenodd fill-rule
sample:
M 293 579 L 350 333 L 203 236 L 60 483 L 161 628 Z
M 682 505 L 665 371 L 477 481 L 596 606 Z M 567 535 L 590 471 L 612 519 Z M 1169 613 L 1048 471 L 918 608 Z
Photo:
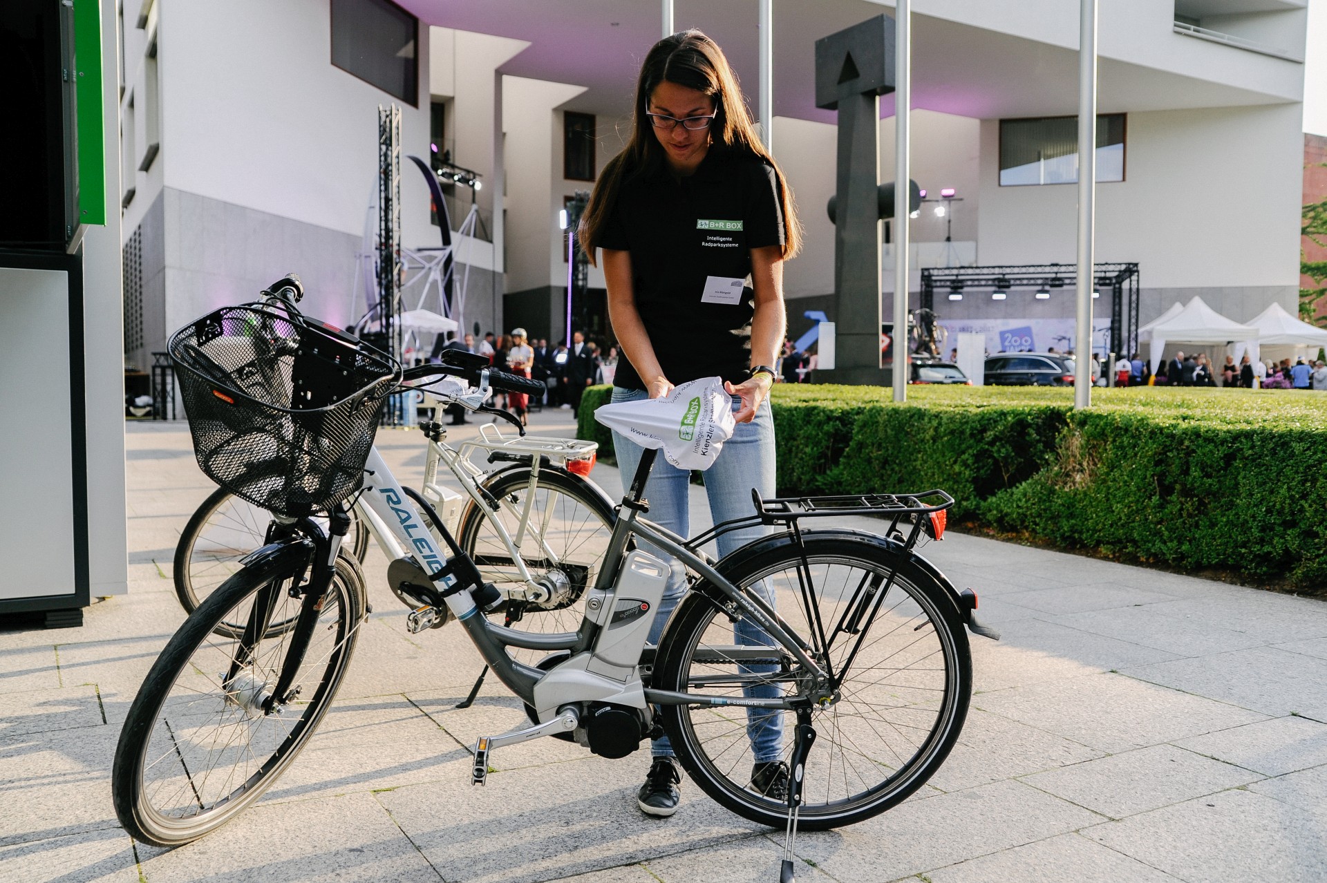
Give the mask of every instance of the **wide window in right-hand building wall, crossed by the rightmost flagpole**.
M 1096 180 L 1124 180 L 1124 114 L 1096 118 Z M 1078 117 L 999 121 L 1001 187 L 1078 182 Z

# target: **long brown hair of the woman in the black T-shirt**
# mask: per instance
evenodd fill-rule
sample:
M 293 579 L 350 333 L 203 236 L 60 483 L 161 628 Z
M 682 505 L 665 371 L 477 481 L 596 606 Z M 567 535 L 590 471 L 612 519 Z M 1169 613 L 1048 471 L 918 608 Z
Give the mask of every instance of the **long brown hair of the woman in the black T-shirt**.
M 722 147 L 736 155 L 759 159 L 775 171 L 779 186 L 779 204 L 783 211 L 783 257 L 798 253 L 802 247 L 802 224 L 792 204 L 792 191 L 783 179 L 783 171 L 774 156 L 756 138 L 751 114 L 742 99 L 738 78 L 729 65 L 719 44 L 699 30 L 682 30 L 671 37 L 664 37 L 645 56 L 641 76 L 636 81 L 636 107 L 632 118 L 632 139 L 617 156 L 604 167 L 589 198 L 589 206 L 581 217 L 581 249 L 594 263 L 594 247 L 604 228 L 608 213 L 617 202 L 622 183 L 638 174 L 657 170 L 664 163 L 664 148 L 654 137 L 653 127 L 645 113 L 649 110 L 650 94 L 661 82 L 671 82 L 686 89 L 694 89 L 714 99 L 714 121 L 710 123 L 711 147 Z

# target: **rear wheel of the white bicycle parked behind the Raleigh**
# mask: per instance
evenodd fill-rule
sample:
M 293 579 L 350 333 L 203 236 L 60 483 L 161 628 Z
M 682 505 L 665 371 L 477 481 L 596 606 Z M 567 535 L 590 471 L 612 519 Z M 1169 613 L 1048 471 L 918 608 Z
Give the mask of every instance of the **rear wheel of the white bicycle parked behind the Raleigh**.
M 514 532 L 512 526 L 519 522 L 515 508 L 528 492 L 529 472 L 528 465 L 516 465 L 486 477 L 480 484 L 480 493 L 500 506 L 499 512 L 494 512 L 491 505 L 479 506 L 470 500 L 456 529 L 456 544 L 474 558 L 484 581 L 494 583 L 504 594 L 519 587 L 520 581 L 490 518 L 502 517 L 508 532 Z M 545 563 L 543 558 L 522 557 L 525 558 L 531 575 L 545 575 L 556 569 L 569 577 L 571 585 L 563 598 L 544 606 L 524 605 L 520 618 L 511 622 L 510 627 L 545 634 L 576 631 L 584 617 L 585 589 L 594 583 L 608 550 L 616 517 L 613 504 L 597 485 L 556 467 L 539 469 L 535 495 L 535 505 L 531 508 L 548 517 L 540 537 L 553 552 L 556 561 L 548 561 L 551 566 L 540 566 Z M 490 617 L 507 624 L 508 614 L 515 613 L 515 607 L 510 605 L 511 602 L 506 602 Z M 510 652 L 531 664 L 539 656 L 535 651 L 516 647 L 510 648 Z

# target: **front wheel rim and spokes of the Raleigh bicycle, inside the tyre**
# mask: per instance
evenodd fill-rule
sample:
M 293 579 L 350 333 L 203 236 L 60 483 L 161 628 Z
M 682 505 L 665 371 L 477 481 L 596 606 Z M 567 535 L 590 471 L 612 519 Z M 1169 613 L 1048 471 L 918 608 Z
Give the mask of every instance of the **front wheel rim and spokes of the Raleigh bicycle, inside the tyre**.
M 354 605 L 345 579 L 338 573 L 328 589 L 295 679 L 300 695 L 280 715 L 264 715 L 257 704 L 263 688 L 271 692 L 276 684 L 289 632 L 260 640 L 230 689 L 222 681 L 240 642 L 204 632 L 174 674 L 139 753 L 135 802 L 149 826 L 166 838 L 196 835 L 256 799 L 295 757 L 330 704 L 358 628 L 349 622 Z M 293 619 L 301 603 L 284 589 L 273 620 Z M 244 622 L 257 591 L 245 593 L 220 618 Z

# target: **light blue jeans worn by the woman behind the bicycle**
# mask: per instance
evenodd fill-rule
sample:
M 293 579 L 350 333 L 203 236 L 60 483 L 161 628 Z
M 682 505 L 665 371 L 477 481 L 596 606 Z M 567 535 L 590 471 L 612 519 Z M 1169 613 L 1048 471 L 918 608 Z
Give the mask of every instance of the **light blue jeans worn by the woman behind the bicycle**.
M 613 390 L 613 402 L 636 402 L 646 398 L 644 390 Z M 733 410 L 740 407 L 740 399 L 733 399 Z M 613 432 L 613 449 L 617 453 L 617 468 L 621 471 L 622 485 L 630 483 L 636 475 L 636 468 L 641 461 L 641 448 L 626 436 Z M 760 496 L 772 497 L 775 485 L 775 447 L 774 447 L 774 416 L 770 414 L 770 403 L 763 402 L 756 411 L 755 419 L 750 423 L 738 423 L 733 438 L 723 443 L 719 456 L 705 472 L 705 495 L 710 500 L 710 516 L 714 524 L 730 518 L 740 518 L 754 514 L 755 506 L 751 502 L 751 489 L 755 488 Z M 690 472 L 678 469 L 664 459 L 662 453 L 654 460 L 650 479 L 645 485 L 645 499 L 649 500 L 650 510 L 646 517 L 654 524 L 667 528 L 673 533 L 690 536 L 690 517 L 687 510 L 687 495 L 691 481 Z M 763 525 L 734 530 L 719 537 L 719 557 L 729 554 L 738 546 L 768 533 Z M 669 556 L 648 544 L 641 542 L 641 548 L 653 556 L 669 561 Z M 752 586 L 764 599 L 774 606 L 774 594 L 764 582 Z M 658 614 L 650 627 L 649 640 L 657 644 L 664 626 L 667 623 L 677 602 L 686 593 L 686 569 L 682 562 L 671 559 L 671 574 L 660 602 Z M 733 638 L 738 644 L 772 646 L 772 640 L 764 630 L 747 619 L 739 619 L 733 627 Z M 776 666 L 740 666 L 742 674 L 772 674 Z M 744 695 L 751 697 L 774 699 L 782 695 L 776 684 L 748 687 Z M 747 709 L 747 737 L 751 740 L 751 752 L 755 762 L 763 764 L 779 760 L 783 750 L 783 717 L 778 711 L 763 711 L 759 708 Z M 667 737 L 654 740 L 652 745 L 656 757 L 671 757 L 673 746 Z

